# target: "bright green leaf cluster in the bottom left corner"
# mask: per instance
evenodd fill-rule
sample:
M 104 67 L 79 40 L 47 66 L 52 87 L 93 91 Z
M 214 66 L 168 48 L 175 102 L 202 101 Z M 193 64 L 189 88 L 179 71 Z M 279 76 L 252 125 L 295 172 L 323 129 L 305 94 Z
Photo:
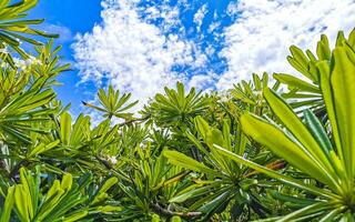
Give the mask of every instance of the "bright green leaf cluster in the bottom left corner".
M 20 184 L 8 189 L 1 221 L 9 221 L 11 211 L 16 212 L 14 218 L 19 221 L 77 221 L 98 213 L 121 210 L 104 204 L 106 191 L 116 183 L 116 178 L 111 178 L 93 189 L 90 173 L 82 175 L 75 183 L 72 174 L 65 173 L 61 181 L 52 180 L 51 185 L 45 188 L 47 193 L 43 193 L 38 165 L 34 175 L 21 168 L 20 181 Z

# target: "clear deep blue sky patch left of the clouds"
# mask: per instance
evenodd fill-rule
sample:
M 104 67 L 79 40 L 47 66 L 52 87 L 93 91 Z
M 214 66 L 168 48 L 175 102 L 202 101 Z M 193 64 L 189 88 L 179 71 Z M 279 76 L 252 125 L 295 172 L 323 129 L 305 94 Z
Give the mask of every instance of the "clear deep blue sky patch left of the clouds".
M 73 71 L 64 72 L 59 77 L 63 85 L 58 87 L 55 91 L 65 103 L 72 103 L 73 112 L 81 111 L 82 100 L 92 100 L 92 97 L 83 91 L 93 92 L 95 89 L 77 85 L 80 77 L 78 75 L 79 70 L 74 67 L 75 59 L 71 44 L 77 33 L 88 32 L 95 23 L 100 23 L 101 10 L 100 0 L 40 0 L 38 6 L 30 11 L 30 17 L 45 19 L 42 29 L 61 36 L 55 40 L 58 44 L 62 44 L 60 56 L 65 62 L 73 64 Z

